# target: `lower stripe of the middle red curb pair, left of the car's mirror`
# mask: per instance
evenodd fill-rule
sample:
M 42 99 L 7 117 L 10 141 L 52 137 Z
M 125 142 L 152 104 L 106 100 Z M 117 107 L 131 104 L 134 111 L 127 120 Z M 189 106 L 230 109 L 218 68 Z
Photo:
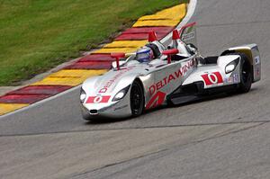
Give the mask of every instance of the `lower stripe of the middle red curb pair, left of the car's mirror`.
M 66 69 L 110 69 L 112 61 L 78 61 Z

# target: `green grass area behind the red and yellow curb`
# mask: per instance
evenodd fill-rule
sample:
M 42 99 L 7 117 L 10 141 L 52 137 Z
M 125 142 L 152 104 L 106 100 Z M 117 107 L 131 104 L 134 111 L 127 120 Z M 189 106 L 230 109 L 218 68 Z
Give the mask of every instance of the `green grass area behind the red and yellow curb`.
M 0 0 L 0 86 L 76 58 L 179 0 Z

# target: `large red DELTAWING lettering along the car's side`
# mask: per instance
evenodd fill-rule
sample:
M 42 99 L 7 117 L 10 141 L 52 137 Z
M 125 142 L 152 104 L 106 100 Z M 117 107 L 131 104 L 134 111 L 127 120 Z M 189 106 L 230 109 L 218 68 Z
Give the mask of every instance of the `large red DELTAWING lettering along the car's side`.
M 180 77 L 183 77 L 186 72 L 191 69 L 195 65 L 195 61 L 193 59 L 189 60 L 187 64 L 185 64 L 183 67 L 180 67 L 177 71 L 174 73 L 171 73 L 168 76 L 165 76 L 163 79 L 159 80 L 156 84 L 150 85 L 148 88 L 148 92 L 151 95 L 155 94 L 157 91 L 162 89 L 164 86 L 174 82 Z

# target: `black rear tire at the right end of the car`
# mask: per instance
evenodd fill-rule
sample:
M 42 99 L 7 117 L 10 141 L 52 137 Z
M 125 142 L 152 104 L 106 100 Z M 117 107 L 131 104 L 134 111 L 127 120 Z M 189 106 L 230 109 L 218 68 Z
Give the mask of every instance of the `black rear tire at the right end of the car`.
M 231 53 L 229 55 L 240 56 L 240 83 L 237 92 L 245 94 L 249 92 L 252 85 L 252 67 L 244 53 Z

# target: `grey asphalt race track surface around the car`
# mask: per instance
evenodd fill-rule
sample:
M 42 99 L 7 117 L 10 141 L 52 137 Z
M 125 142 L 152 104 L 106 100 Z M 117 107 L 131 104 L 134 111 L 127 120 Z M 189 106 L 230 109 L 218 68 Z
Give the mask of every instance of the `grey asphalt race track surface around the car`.
M 87 123 L 78 91 L 0 118 L 0 178 L 270 178 L 270 1 L 200 0 L 202 55 L 255 42 L 250 93 Z

